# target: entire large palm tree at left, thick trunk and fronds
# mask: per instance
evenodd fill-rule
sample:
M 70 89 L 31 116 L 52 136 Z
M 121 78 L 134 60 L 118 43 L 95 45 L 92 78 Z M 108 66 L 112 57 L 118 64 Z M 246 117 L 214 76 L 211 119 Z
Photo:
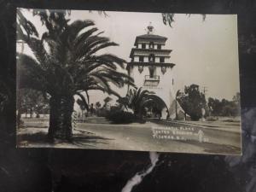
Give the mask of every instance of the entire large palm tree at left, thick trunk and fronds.
M 93 21 L 75 20 L 69 24 L 62 12 L 51 11 L 47 15 L 43 11 L 39 15 L 47 27 L 42 38 L 29 37 L 23 32 L 18 35 L 36 57 L 17 54 L 19 87 L 49 94 L 49 137 L 70 139 L 74 95 L 80 96 L 88 108 L 82 92 L 102 90 L 119 96 L 110 84 L 120 88 L 133 85 L 133 79 L 117 71 L 118 67 L 125 67 L 125 60 L 97 54 L 118 44 L 102 37 Z

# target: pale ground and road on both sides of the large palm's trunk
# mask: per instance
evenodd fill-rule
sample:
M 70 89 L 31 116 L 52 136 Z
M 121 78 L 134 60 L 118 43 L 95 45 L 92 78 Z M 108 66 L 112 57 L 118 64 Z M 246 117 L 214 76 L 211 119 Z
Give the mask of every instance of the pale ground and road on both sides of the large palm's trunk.
M 104 118 L 89 118 L 85 123 L 77 123 L 73 128 L 73 143 L 44 143 L 27 137 L 27 134 L 47 133 L 48 121 L 25 119 L 25 127 L 18 131 L 18 141 L 26 147 L 92 148 L 137 151 L 159 151 L 193 154 L 241 154 L 241 131 L 234 122 L 189 122 L 150 119 L 145 124 L 109 124 Z M 166 137 L 154 137 L 154 128 Z M 182 133 L 185 139 L 171 138 L 170 130 L 187 129 Z M 198 140 L 198 132 L 206 139 Z M 26 135 L 26 137 L 25 137 Z M 169 136 L 169 137 L 168 137 Z M 19 147 L 24 147 L 18 143 Z

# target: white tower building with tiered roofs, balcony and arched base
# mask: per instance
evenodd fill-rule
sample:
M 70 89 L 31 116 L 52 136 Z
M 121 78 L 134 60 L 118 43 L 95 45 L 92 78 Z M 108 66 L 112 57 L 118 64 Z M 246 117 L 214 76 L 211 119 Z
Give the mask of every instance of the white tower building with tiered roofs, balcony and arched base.
M 128 74 L 134 79 L 137 87 L 154 91 L 166 102 L 170 117 L 175 118 L 176 102 L 173 91 L 172 49 L 166 49 L 166 37 L 154 34 L 154 26 L 148 26 L 147 34 L 137 36 L 131 49 L 131 62 L 127 65 Z M 180 108 L 180 107 L 179 107 Z M 162 118 L 167 115 L 162 111 Z

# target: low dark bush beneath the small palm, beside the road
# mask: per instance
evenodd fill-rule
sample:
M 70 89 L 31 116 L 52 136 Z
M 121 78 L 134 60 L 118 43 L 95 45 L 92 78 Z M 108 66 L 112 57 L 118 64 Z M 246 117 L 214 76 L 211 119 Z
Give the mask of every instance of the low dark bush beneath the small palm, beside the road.
M 138 119 L 133 113 L 121 110 L 111 110 L 106 115 L 106 119 L 113 124 L 130 124 L 134 122 L 144 123 L 143 119 Z

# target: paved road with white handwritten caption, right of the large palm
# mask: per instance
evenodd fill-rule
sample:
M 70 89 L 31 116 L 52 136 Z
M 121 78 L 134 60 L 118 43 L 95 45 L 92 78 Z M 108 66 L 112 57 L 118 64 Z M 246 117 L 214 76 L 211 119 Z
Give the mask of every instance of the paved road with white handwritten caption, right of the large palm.
M 195 133 L 204 132 L 208 139 L 200 143 L 198 139 L 189 141 L 172 140 L 153 137 L 154 127 L 185 127 L 192 128 Z M 188 122 L 170 122 L 152 120 L 146 124 L 109 125 L 104 123 L 79 123 L 76 130 L 90 132 L 101 137 L 101 142 L 95 141 L 95 148 L 146 150 L 180 153 L 203 154 L 241 154 L 241 135 L 239 125 L 205 126 L 189 124 Z M 105 138 L 105 139 L 104 139 Z M 102 142 L 104 140 L 104 142 Z

